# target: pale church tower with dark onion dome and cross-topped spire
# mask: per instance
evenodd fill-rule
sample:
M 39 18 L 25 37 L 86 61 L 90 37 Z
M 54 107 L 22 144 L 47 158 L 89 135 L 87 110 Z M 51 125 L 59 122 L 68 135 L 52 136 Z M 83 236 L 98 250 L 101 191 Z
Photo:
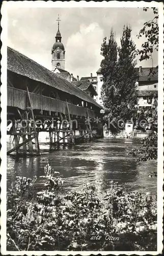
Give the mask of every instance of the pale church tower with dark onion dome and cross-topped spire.
M 58 14 L 58 32 L 56 35 L 56 42 L 52 46 L 52 72 L 58 67 L 60 69 L 65 69 L 65 49 L 64 45 L 62 44 L 62 36 L 59 30 L 59 22 L 61 20 L 59 19 L 59 14 Z

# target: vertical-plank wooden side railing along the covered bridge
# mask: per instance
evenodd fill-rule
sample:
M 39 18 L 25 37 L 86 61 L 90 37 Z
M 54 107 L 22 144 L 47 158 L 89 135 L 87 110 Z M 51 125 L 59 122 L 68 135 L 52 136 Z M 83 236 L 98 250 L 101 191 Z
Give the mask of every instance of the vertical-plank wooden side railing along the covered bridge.
M 26 108 L 26 91 L 22 91 L 16 88 L 7 88 L 7 105 L 25 110 Z M 67 103 L 62 100 L 53 99 L 43 95 L 30 93 L 30 99 L 32 103 L 33 110 L 45 110 L 60 112 L 63 114 L 68 114 Z M 93 110 L 83 108 L 81 106 L 76 106 L 74 104 L 68 103 L 69 113 L 77 116 L 89 115 L 90 118 L 96 117 L 96 113 Z

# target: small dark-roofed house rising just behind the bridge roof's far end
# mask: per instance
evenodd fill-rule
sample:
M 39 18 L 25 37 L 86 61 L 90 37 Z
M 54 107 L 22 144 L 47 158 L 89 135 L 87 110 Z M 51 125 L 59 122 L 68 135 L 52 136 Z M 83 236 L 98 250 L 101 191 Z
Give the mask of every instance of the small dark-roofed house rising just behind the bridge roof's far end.
M 85 91 L 90 97 L 94 98 L 97 96 L 96 89 L 94 88 L 92 82 L 90 80 L 81 80 L 80 81 L 72 81 L 72 83 Z

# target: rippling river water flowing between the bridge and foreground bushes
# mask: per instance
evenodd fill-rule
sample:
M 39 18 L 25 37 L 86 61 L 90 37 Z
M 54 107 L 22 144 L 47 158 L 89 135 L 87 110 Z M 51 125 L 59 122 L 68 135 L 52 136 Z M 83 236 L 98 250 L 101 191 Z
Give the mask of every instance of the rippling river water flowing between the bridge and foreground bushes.
M 149 178 L 148 174 L 156 172 L 157 163 L 154 160 L 136 163 L 136 159 L 127 154 L 134 146 L 140 146 L 139 139 L 103 138 L 59 150 L 41 144 L 40 156 L 7 157 L 7 185 L 9 187 L 16 176 L 44 175 L 44 166 L 49 163 L 54 171 L 60 172 L 66 190 L 79 188 L 89 181 L 99 191 L 105 191 L 113 180 L 130 190 L 143 191 L 145 186 L 147 191 L 156 194 L 156 178 Z M 12 147 L 8 144 L 8 149 Z

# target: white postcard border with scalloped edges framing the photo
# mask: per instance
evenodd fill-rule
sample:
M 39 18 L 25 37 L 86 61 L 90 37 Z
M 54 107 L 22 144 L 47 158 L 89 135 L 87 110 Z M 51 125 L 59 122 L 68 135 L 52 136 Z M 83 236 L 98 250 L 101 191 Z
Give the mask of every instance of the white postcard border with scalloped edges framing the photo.
M 126 7 L 126 8 L 134 8 L 134 7 L 156 7 L 159 10 L 159 50 L 158 50 L 158 161 L 157 161 L 157 251 L 7 251 L 6 250 L 6 165 L 7 165 L 7 146 L 6 146 L 6 116 L 7 116 L 7 8 L 89 8 L 89 7 L 106 7 L 106 8 L 116 8 L 116 7 Z M 162 217 L 163 217 L 163 4 L 158 2 L 118 2 L 118 1 L 110 1 L 110 2 L 86 2 L 86 1 L 70 1 L 70 2 L 44 2 L 44 1 L 9 1 L 3 2 L 2 9 L 2 20 L 1 20 L 1 27 L 2 27 L 2 75 L 1 75 L 1 253 L 3 255 L 11 254 L 11 255 L 90 255 L 90 254 L 137 254 L 137 255 L 145 255 L 151 254 L 156 255 L 162 252 Z

